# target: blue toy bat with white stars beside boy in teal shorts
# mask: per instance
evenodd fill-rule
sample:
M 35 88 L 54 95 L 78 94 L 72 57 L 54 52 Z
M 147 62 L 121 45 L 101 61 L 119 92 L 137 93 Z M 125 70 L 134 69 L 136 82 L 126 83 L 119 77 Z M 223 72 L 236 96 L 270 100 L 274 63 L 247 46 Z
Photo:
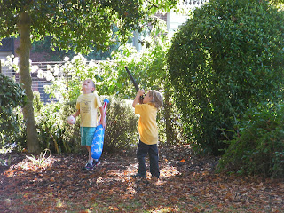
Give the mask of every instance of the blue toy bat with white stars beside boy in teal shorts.
M 103 111 L 104 111 L 105 121 L 106 121 L 106 108 L 108 103 L 109 100 L 104 99 Z M 93 159 L 99 159 L 101 153 L 103 152 L 104 136 L 105 136 L 105 128 L 103 127 L 102 124 L 99 124 L 99 126 L 97 126 L 94 138 L 92 139 L 91 143 L 91 157 Z

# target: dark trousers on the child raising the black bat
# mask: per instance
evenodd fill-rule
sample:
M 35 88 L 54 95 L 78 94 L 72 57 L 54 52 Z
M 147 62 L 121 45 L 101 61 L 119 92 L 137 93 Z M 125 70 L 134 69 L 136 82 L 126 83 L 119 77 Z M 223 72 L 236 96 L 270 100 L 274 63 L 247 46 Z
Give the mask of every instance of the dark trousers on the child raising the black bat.
M 159 152 L 158 146 L 154 145 L 146 145 L 141 140 L 139 140 L 138 148 L 137 148 L 137 159 L 139 163 L 138 175 L 141 177 L 146 177 L 146 164 L 145 157 L 149 154 L 150 160 L 150 172 L 153 177 L 160 177 L 159 170 Z

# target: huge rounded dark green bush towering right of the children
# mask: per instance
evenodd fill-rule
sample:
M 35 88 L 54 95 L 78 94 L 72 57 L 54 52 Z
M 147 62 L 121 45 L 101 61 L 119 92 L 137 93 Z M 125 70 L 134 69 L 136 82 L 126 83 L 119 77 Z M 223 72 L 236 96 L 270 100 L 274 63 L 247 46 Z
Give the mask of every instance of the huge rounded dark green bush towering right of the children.
M 170 80 L 196 148 L 220 154 L 236 118 L 282 96 L 283 21 L 267 1 L 212 0 L 174 36 Z

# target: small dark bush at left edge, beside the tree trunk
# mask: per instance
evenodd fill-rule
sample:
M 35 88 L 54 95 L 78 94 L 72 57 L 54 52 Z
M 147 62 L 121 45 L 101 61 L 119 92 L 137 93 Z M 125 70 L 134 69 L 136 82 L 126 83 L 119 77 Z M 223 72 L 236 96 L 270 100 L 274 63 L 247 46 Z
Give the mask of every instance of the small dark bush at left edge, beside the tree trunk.
M 20 116 L 16 114 L 18 106 L 24 106 L 26 95 L 19 83 L 0 74 L 0 146 L 15 142 L 21 130 Z

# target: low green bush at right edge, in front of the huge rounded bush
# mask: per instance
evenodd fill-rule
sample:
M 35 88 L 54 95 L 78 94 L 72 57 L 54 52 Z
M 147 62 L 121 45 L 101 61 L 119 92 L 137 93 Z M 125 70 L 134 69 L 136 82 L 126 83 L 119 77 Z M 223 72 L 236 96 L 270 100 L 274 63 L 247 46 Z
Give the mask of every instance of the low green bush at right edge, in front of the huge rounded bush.
M 284 104 L 264 103 L 244 114 L 220 170 L 284 177 Z

